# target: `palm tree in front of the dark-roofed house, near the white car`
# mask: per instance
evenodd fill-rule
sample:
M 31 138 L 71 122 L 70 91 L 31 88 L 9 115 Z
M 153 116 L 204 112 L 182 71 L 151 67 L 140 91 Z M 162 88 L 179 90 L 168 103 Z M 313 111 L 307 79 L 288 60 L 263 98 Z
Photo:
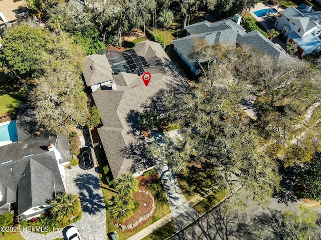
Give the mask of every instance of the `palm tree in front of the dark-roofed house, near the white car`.
M 77 195 L 60 192 L 56 198 L 50 201 L 52 208 L 50 213 L 53 218 L 61 223 L 78 216 L 81 213 L 81 204 Z

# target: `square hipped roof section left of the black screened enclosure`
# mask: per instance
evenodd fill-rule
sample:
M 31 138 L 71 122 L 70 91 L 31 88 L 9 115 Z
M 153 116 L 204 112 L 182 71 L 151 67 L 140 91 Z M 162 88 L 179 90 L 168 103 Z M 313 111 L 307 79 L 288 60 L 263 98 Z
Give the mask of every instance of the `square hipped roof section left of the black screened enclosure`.
M 84 57 L 81 60 L 81 70 L 87 86 L 113 79 L 111 67 L 104 54 Z

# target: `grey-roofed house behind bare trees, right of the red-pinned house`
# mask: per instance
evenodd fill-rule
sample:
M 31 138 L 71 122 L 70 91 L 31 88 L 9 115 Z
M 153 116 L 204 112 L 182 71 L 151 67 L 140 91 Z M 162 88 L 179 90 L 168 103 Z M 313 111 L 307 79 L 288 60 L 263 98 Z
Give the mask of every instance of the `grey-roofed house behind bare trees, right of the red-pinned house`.
M 223 46 L 248 47 L 250 50 L 257 49 L 263 53 L 269 54 L 278 63 L 287 61 L 289 57 L 283 53 L 270 40 L 265 38 L 257 30 L 246 33 L 245 29 L 233 22 L 231 19 L 210 23 L 204 21 L 201 23 L 187 26 L 186 31 L 189 36 L 174 40 L 174 49 L 182 60 L 190 67 L 194 74 L 200 69 L 200 63 L 190 56 L 196 41 L 206 40 L 207 44 L 219 43 Z

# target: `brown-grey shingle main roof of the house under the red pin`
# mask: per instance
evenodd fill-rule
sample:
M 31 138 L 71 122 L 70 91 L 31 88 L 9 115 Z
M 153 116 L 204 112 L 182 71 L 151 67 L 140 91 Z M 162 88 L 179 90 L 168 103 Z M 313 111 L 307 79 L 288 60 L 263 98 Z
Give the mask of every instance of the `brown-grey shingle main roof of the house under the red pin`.
M 136 143 L 139 134 L 131 134 L 136 131 L 132 125 L 137 125 L 137 119 L 129 120 L 130 113 L 140 112 L 142 105 L 148 104 L 150 97 L 159 90 L 184 87 L 181 75 L 161 45 L 143 41 L 137 43 L 134 50 L 148 63 L 149 67 L 144 67 L 152 75 L 148 87 L 145 87 L 141 76 L 120 73 L 114 78 L 116 90 L 102 86 L 92 93 L 103 124 L 98 133 L 114 178 L 121 172 L 130 171 L 134 161 L 125 156 L 125 148 L 130 143 Z

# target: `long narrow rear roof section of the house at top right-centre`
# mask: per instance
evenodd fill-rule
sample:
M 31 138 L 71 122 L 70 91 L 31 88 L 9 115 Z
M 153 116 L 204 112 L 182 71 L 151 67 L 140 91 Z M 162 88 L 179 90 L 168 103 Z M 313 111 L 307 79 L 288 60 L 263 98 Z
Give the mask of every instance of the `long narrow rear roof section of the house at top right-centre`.
M 235 32 L 245 32 L 245 29 L 240 25 L 236 24 L 231 19 L 225 19 L 222 21 L 210 23 L 208 21 L 203 21 L 200 23 L 192 24 L 185 27 L 186 31 L 190 34 L 201 34 L 209 33 L 214 31 L 222 31 L 226 29 L 233 29 Z

